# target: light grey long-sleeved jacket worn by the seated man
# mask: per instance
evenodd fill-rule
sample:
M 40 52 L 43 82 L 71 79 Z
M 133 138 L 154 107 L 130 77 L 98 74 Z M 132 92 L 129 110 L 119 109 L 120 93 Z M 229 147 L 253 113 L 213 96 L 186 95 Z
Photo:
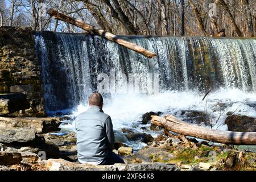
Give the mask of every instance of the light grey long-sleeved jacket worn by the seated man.
M 114 132 L 111 118 L 98 106 L 77 116 L 75 122 L 77 135 L 77 157 L 81 162 L 103 160 L 108 151 L 114 148 Z

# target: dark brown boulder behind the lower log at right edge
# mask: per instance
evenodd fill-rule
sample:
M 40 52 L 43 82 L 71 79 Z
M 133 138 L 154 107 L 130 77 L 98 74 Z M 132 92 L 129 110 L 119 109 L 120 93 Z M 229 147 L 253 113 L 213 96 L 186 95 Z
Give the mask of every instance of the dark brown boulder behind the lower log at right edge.
M 246 115 L 229 115 L 225 120 L 225 124 L 228 125 L 229 131 L 256 131 L 256 119 Z

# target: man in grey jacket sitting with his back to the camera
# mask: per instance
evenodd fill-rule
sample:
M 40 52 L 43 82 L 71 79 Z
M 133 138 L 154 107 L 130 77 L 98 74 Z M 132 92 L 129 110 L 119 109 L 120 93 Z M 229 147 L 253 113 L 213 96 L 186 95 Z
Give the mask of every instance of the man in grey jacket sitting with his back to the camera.
M 112 151 L 114 131 L 111 118 L 102 110 L 103 98 L 100 93 L 92 93 L 89 107 L 77 116 L 77 157 L 80 163 L 111 165 L 125 163 Z

